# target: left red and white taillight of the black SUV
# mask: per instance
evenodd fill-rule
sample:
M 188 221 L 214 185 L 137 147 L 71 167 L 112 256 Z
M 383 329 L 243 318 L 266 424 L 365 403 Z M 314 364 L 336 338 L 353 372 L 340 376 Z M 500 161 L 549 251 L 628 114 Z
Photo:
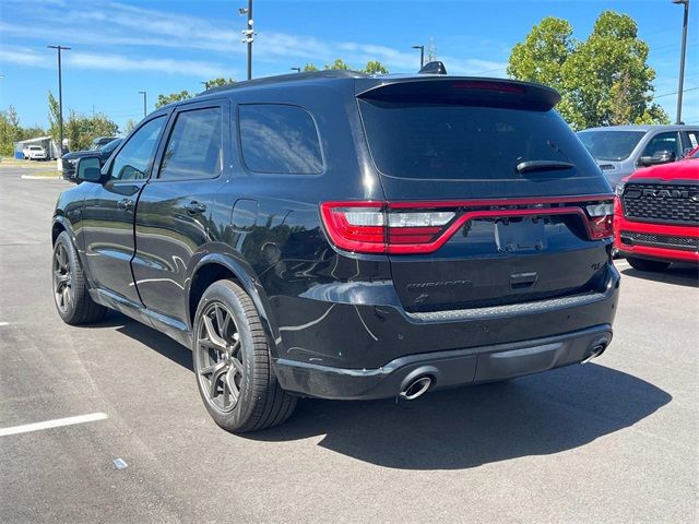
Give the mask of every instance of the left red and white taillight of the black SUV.
M 427 253 L 454 218 L 452 211 L 391 210 L 376 202 L 325 202 L 320 206 L 335 246 L 364 253 Z

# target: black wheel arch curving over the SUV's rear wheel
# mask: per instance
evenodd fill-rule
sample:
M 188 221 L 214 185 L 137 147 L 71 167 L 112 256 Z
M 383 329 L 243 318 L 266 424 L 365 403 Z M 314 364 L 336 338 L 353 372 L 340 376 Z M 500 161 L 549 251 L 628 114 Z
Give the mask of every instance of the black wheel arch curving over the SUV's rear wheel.
M 202 295 L 211 284 L 224 278 L 230 278 L 236 282 L 252 299 L 268 335 L 270 354 L 273 358 L 276 358 L 279 331 L 274 319 L 271 317 L 271 307 L 266 294 L 260 286 L 251 267 L 244 261 L 236 260 L 225 253 L 209 253 L 192 270 L 187 286 L 187 319 L 190 330 L 193 331 L 194 314 Z

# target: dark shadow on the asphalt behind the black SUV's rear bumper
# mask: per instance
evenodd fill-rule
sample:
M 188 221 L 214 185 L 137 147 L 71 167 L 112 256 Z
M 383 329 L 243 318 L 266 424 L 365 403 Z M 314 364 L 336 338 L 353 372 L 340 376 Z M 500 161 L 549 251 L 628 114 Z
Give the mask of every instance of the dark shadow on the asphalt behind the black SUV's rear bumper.
M 242 437 L 319 445 L 400 469 L 462 469 L 571 450 L 633 426 L 672 396 L 589 364 L 505 383 L 434 392 L 418 401 L 304 400 L 283 426 Z

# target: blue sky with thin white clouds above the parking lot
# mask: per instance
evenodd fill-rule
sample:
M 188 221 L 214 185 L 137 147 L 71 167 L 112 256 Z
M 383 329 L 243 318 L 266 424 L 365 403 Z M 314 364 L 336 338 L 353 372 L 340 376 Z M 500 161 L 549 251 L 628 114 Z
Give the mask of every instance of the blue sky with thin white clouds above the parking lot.
M 241 80 L 240 43 L 246 0 L 2 0 L 0 109 L 13 105 L 23 124 L 47 124 L 46 94 L 57 94 L 56 51 L 63 55 L 63 107 L 104 111 L 117 123 L 142 116 L 158 93 L 197 92 L 214 76 Z M 412 72 L 433 39 L 450 73 L 505 76 L 512 45 L 542 17 L 568 20 L 585 38 L 605 9 L 631 15 L 650 46 L 656 95 L 677 91 L 683 9 L 671 0 L 593 1 L 272 1 L 256 0 L 253 75 L 289 72 L 343 58 L 356 68 L 379 60 L 391 72 Z M 689 20 L 683 119 L 699 122 L 699 4 Z M 696 88 L 696 90 L 695 90 Z M 676 95 L 660 96 L 671 118 Z

